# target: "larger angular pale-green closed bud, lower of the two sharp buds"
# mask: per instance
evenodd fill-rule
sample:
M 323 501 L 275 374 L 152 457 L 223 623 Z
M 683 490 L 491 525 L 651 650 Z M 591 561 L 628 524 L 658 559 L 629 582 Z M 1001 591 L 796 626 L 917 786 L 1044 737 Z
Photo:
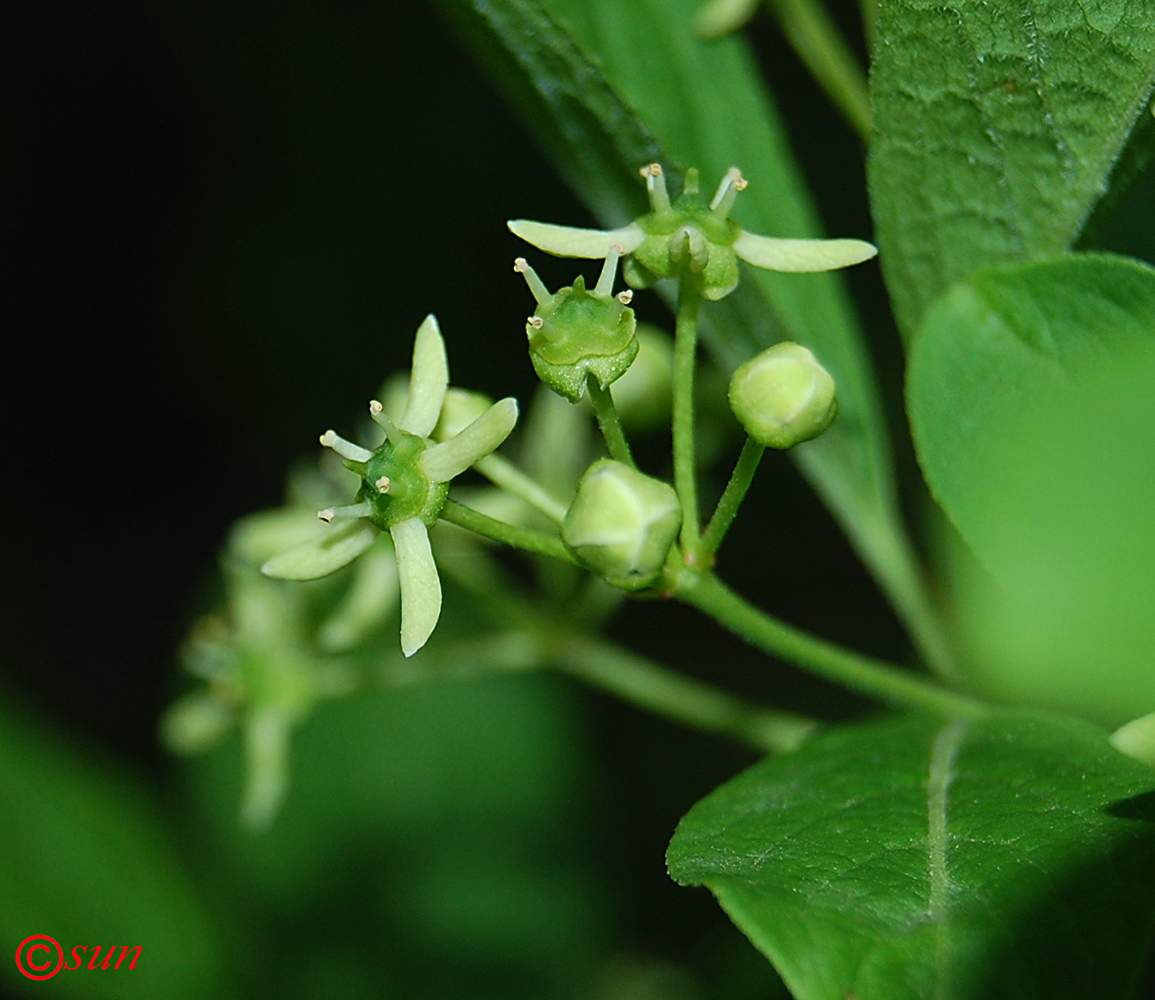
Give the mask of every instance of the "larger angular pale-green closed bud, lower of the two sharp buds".
M 678 494 L 668 484 L 603 458 L 578 484 L 561 540 L 609 583 L 642 590 L 657 581 L 680 527 Z

